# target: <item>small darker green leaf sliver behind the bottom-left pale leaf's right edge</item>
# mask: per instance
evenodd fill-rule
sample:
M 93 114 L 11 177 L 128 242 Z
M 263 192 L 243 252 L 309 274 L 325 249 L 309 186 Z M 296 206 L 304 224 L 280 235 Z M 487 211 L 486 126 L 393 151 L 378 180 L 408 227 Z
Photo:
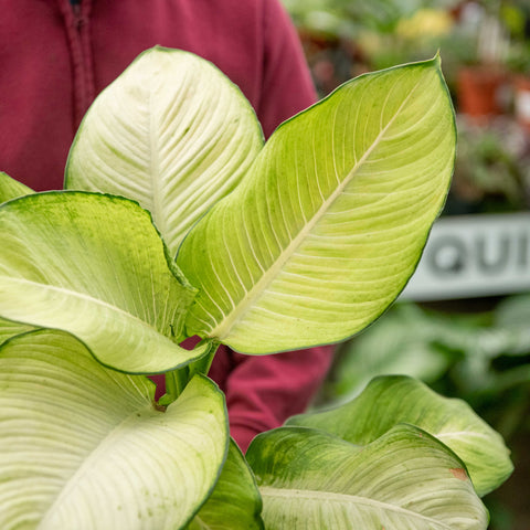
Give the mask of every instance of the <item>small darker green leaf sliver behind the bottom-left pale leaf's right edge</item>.
M 263 530 L 261 511 L 254 475 L 231 439 L 215 489 L 187 530 Z

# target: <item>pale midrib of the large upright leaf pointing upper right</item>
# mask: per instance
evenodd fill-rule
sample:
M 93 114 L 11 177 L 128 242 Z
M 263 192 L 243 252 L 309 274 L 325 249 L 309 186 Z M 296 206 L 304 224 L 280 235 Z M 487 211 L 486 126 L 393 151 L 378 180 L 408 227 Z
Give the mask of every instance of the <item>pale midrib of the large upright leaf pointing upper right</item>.
M 386 130 L 393 125 L 396 117 L 402 112 L 403 107 L 409 103 L 409 99 L 412 97 L 416 88 L 420 86 L 420 81 L 415 84 L 415 86 L 411 89 L 407 94 L 403 103 L 396 109 L 395 114 L 389 119 L 388 124 L 384 128 L 379 132 L 377 138 L 373 140 L 371 146 L 364 151 L 363 156 L 357 161 L 353 168 L 348 172 L 348 174 L 343 178 L 337 189 L 326 199 L 321 206 L 316 211 L 312 218 L 309 220 L 308 223 L 304 226 L 300 232 L 296 235 L 296 237 L 289 243 L 289 245 L 282 252 L 282 254 L 272 263 L 267 271 L 261 276 L 261 278 L 254 284 L 254 286 L 246 293 L 246 295 L 240 300 L 240 303 L 234 307 L 234 309 L 225 316 L 225 318 L 215 327 L 213 328 L 209 337 L 210 338 L 218 338 L 219 340 L 223 341 L 232 331 L 233 327 L 244 317 L 244 315 L 254 307 L 256 300 L 263 296 L 266 288 L 274 282 L 274 279 L 278 276 L 278 274 L 283 271 L 285 264 L 294 254 L 294 252 L 305 241 L 306 236 L 312 231 L 315 225 L 320 221 L 320 219 L 326 214 L 329 206 L 340 197 L 344 188 L 351 182 L 353 177 L 357 173 L 357 170 L 362 166 L 362 163 L 367 160 L 367 158 L 372 153 L 375 147 L 379 146 L 380 141 L 384 137 Z

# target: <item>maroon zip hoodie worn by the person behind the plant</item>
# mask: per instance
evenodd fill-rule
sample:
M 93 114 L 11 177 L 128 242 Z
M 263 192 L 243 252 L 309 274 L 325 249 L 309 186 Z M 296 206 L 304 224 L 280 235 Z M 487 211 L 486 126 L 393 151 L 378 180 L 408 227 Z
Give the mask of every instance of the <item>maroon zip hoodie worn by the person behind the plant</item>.
M 278 0 L 4 0 L 0 170 L 38 191 L 61 189 L 70 145 L 94 97 L 156 44 L 213 62 L 241 87 L 267 137 L 315 102 Z M 210 375 L 226 393 L 240 446 L 301 412 L 330 361 L 329 347 L 268 357 L 221 347 Z

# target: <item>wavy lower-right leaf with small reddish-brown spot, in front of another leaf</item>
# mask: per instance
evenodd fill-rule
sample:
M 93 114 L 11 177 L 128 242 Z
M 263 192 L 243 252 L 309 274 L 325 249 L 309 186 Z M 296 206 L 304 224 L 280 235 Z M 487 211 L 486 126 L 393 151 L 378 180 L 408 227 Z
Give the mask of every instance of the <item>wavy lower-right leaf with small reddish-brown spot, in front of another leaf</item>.
M 283 427 L 246 454 L 267 530 L 485 530 L 487 512 L 462 462 L 412 425 L 365 447 Z

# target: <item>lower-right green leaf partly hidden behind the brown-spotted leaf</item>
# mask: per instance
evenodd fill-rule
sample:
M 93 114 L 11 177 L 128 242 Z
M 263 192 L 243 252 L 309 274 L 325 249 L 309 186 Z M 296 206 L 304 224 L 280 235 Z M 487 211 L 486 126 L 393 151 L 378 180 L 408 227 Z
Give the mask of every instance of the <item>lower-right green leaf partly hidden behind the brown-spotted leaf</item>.
M 465 462 L 480 496 L 513 470 L 502 437 L 465 401 L 443 398 L 405 375 L 377 378 L 350 403 L 294 416 L 287 423 L 320 428 L 357 445 L 369 444 L 399 423 L 416 425 Z

